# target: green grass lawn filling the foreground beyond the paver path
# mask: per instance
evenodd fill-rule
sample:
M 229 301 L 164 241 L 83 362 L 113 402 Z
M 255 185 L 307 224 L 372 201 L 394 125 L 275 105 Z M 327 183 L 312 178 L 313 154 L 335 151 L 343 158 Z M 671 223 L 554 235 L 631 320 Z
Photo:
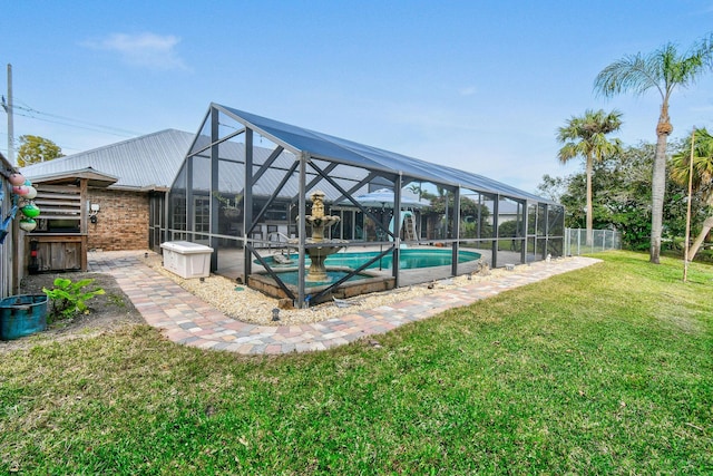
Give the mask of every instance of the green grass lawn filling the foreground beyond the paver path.
M 713 268 L 604 263 L 285 357 L 148 327 L 2 354 L 0 472 L 710 474 Z

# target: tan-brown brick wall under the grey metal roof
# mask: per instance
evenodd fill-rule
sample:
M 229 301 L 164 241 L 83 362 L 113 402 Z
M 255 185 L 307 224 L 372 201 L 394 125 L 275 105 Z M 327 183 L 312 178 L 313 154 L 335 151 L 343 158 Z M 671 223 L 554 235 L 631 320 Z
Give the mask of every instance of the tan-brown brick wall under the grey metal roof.
M 99 205 L 97 223 L 87 223 L 89 250 L 148 249 L 148 194 L 89 188 L 88 197 Z

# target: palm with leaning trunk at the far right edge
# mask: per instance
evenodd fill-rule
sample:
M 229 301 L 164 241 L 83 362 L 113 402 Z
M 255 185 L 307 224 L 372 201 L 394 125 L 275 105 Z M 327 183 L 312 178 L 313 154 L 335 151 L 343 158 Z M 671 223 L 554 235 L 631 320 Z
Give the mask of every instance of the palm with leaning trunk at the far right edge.
M 695 146 L 693 147 L 693 191 L 701 193 L 703 202 L 713 212 L 713 137 L 706 129 L 695 130 Z M 671 178 L 680 185 L 688 184 L 691 173 L 691 145 L 671 159 Z M 713 215 L 703 222 L 703 229 L 695 239 L 688 252 L 688 260 L 693 261 L 703 240 L 713 229 Z

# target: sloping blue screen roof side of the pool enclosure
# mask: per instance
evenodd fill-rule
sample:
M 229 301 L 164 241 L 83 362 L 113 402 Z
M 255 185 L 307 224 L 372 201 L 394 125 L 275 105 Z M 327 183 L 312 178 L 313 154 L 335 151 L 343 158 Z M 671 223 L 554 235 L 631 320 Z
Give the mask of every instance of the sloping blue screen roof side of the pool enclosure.
M 520 200 L 554 203 L 548 198 L 543 198 L 482 175 L 292 126 L 218 104 L 213 104 L 212 106 L 257 130 L 265 137 L 280 143 L 293 154 L 302 152 L 314 158 L 339 162 L 385 174 L 400 173 L 411 178 L 438 182 L 442 185 L 460 186 Z

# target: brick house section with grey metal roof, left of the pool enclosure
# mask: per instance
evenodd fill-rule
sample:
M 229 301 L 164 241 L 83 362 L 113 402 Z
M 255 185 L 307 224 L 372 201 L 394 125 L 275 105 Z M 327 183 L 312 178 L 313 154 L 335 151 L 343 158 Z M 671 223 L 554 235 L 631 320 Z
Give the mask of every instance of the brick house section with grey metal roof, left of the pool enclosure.
M 154 225 L 163 222 L 165 194 L 193 138 L 166 129 L 23 167 L 42 211 L 28 239 L 71 237 L 82 243 L 85 255 L 86 250 L 158 249 L 160 230 Z M 46 256 L 51 260 L 57 261 Z M 84 268 L 77 263 L 67 268 Z

